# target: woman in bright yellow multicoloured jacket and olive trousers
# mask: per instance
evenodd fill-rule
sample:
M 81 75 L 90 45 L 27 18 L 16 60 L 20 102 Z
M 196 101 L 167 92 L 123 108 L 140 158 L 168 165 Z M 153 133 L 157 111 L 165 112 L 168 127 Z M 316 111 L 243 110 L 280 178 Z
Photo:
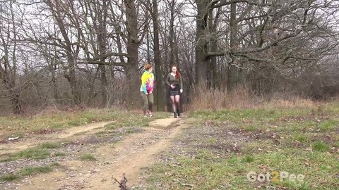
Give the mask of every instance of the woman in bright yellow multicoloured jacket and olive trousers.
M 140 94 L 143 101 L 143 115 L 144 117 L 153 116 L 153 89 L 154 89 L 154 75 L 152 73 L 152 65 L 145 63 L 145 72 L 141 76 Z

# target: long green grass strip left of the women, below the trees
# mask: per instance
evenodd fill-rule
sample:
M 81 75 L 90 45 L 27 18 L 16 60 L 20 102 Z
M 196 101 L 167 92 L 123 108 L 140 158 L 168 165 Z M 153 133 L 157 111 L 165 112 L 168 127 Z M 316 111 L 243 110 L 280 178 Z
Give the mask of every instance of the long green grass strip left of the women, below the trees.
M 150 121 L 169 117 L 169 113 L 155 112 L 153 118 L 143 118 L 141 110 L 88 109 L 78 112 L 53 110 L 32 116 L 0 117 L 0 133 L 4 137 L 23 137 L 26 133 L 51 133 L 100 121 L 114 121 L 107 129 L 118 127 L 148 127 Z

